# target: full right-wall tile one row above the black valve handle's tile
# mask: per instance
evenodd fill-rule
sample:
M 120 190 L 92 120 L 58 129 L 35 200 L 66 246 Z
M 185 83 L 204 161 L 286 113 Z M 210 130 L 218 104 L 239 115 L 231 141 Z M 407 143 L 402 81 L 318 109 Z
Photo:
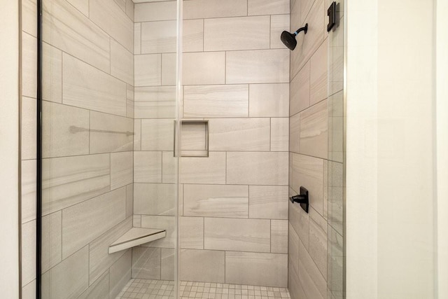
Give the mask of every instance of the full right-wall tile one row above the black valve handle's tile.
M 300 113 L 300 153 L 328 158 L 328 102 Z

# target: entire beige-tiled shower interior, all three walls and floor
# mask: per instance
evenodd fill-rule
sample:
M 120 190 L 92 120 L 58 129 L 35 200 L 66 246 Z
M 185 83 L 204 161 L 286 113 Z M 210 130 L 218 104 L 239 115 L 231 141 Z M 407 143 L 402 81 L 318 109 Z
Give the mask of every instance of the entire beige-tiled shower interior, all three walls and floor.
M 127 298 L 138 284 L 154 287 L 135 298 L 174 296 L 174 279 L 186 298 L 342 298 L 328 1 L 183 1 L 180 107 L 177 3 L 135 2 L 43 0 L 43 298 Z M 22 14 L 22 293 L 34 298 L 36 1 Z M 291 52 L 279 36 L 304 22 Z M 181 155 L 204 157 L 174 154 L 176 109 Z M 300 186 L 309 214 L 288 204 Z M 132 227 L 167 236 L 109 254 Z M 224 293 L 185 292 L 205 284 Z

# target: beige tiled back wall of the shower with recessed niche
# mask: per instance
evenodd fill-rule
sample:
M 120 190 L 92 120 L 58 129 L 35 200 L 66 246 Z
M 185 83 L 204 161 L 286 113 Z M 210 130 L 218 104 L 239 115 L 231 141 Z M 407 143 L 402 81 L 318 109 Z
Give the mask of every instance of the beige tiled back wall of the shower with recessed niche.
M 209 120 L 209 156 L 181 158 L 182 280 L 287 286 L 289 11 L 183 1 L 183 119 Z M 133 250 L 137 278 L 174 278 L 175 19 L 176 1 L 135 6 L 134 225 L 167 228 Z

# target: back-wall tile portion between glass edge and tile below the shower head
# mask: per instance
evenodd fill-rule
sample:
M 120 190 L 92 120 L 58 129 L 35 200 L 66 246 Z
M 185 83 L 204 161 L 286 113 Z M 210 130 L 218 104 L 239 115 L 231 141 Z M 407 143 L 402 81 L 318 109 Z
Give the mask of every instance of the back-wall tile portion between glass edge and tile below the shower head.
M 224 84 L 225 52 L 183 53 L 182 71 L 184 85 Z

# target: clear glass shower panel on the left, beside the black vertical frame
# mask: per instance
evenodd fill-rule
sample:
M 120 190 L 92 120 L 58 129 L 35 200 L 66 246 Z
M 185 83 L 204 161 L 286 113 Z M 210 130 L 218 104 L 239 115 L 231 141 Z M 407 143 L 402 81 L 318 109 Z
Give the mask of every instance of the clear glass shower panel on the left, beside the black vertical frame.
M 177 4 L 138 2 L 41 0 L 39 298 L 176 295 Z

